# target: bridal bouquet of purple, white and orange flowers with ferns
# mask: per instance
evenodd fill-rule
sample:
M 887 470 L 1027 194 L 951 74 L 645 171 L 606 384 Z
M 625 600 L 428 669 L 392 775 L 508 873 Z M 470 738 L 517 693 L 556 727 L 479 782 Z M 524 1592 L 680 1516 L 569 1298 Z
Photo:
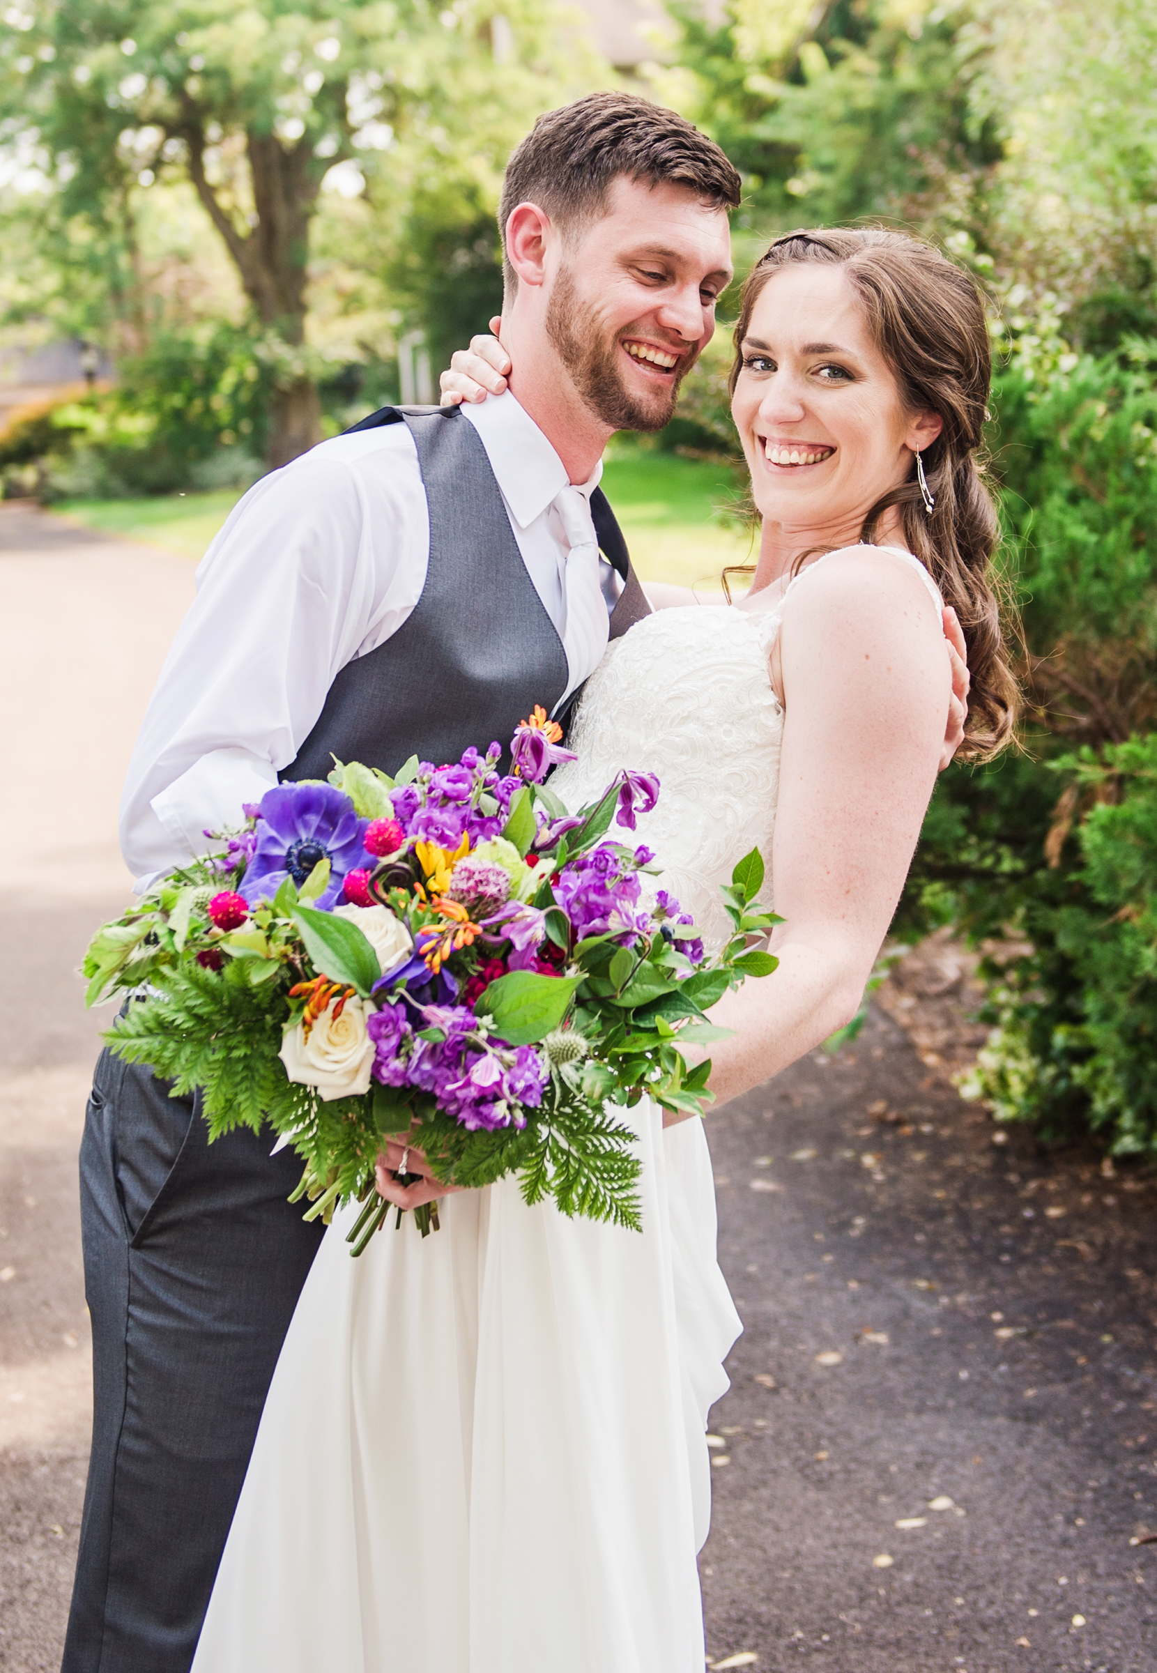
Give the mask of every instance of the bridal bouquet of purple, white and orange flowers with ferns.
M 568 815 L 543 783 L 573 760 L 558 738 L 535 709 L 507 776 L 495 743 L 276 785 L 89 947 L 89 1004 L 134 990 L 112 1051 L 202 1087 L 212 1138 L 268 1121 L 304 1161 L 306 1220 L 364 1203 L 354 1255 L 390 1210 L 383 1138 L 403 1133 L 446 1183 L 517 1173 L 528 1203 L 637 1228 L 615 1109 L 647 1092 L 697 1114 L 711 1062 L 689 1069 L 680 1046 L 726 1037 L 704 1009 L 776 967 L 749 945 L 777 922 L 756 902 L 759 852 L 722 890 L 731 940 L 704 957 L 679 902 L 647 890 L 650 850 L 607 840 L 659 781 L 622 773 Z M 415 1218 L 436 1230 L 435 1205 Z

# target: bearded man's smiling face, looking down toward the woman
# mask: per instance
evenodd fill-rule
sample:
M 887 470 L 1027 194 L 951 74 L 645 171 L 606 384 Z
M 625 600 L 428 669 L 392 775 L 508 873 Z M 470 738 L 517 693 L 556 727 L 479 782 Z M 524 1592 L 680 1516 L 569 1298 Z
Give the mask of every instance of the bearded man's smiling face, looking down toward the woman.
M 619 177 L 605 211 L 555 246 L 547 335 L 602 423 L 669 423 L 731 273 L 727 212 L 684 186 Z

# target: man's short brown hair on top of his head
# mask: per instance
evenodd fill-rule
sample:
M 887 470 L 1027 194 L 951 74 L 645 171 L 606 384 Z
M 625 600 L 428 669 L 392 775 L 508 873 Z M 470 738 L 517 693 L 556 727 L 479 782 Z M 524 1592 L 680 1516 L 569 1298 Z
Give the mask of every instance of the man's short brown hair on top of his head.
M 590 94 L 547 110 L 512 156 L 502 184 L 498 231 L 508 294 L 518 286 L 505 254 L 510 211 L 535 202 L 570 229 L 604 209 L 619 176 L 686 186 L 716 209 L 737 207 L 742 186 L 714 139 L 637 94 Z

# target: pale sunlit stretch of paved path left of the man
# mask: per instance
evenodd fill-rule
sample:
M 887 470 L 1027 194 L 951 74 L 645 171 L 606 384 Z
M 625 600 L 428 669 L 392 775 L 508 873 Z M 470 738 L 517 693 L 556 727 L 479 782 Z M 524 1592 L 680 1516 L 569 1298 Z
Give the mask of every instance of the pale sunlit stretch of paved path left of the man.
M 117 800 L 192 564 L 0 505 L 0 1668 L 55 1673 L 90 1425 L 75 974 L 129 875 Z

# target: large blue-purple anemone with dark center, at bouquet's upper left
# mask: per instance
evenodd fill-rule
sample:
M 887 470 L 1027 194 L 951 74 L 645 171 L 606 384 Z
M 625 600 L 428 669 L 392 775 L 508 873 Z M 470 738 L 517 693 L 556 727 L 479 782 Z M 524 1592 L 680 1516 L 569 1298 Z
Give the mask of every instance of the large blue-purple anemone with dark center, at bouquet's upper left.
M 319 860 L 329 860 L 329 883 L 316 905 L 328 912 L 341 898 L 346 872 L 373 867 L 363 847 L 368 820 L 333 785 L 274 785 L 261 798 L 257 847 L 237 885 L 249 905 L 273 900 L 288 877 L 298 888 Z

